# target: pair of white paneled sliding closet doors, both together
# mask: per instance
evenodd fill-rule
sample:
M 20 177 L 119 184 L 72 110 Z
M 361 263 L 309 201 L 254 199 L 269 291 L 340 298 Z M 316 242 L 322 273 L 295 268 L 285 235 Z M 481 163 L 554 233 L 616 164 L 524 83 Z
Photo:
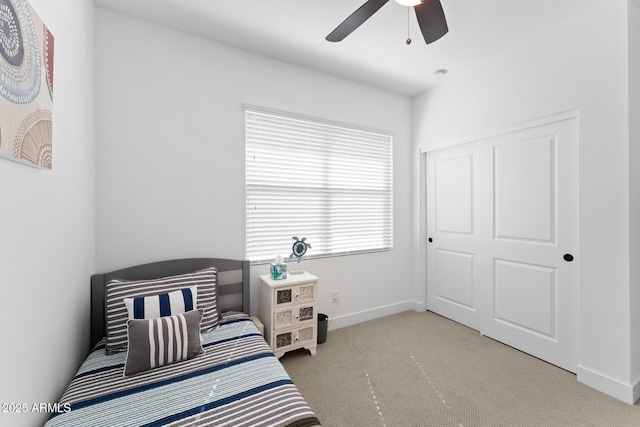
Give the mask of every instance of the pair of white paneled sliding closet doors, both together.
M 572 372 L 577 141 L 567 119 L 427 154 L 428 309 Z

